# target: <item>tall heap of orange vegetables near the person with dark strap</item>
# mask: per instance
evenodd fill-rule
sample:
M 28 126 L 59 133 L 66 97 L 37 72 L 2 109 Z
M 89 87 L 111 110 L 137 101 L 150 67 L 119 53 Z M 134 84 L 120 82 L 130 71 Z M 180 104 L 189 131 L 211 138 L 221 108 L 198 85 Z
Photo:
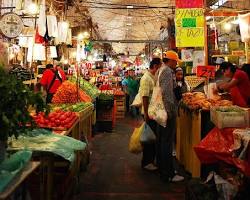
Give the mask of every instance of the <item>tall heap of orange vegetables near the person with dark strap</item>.
M 77 94 L 78 92 L 78 94 Z M 77 103 L 79 101 L 91 102 L 92 99 L 80 88 L 77 90 L 76 84 L 70 81 L 64 81 L 62 85 L 58 88 L 55 93 L 52 103 L 62 104 L 62 103 Z

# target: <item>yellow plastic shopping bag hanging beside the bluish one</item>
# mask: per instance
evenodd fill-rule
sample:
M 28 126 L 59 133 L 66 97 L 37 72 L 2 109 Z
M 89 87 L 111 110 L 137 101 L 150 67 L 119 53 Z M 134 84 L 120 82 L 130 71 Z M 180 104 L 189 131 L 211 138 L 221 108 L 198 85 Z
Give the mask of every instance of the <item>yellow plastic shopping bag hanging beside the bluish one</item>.
M 144 124 L 142 124 L 139 128 L 135 128 L 133 134 L 130 137 L 128 149 L 131 153 L 141 153 L 142 152 L 142 145 L 140 142 L 141 134 L 144 129 Z

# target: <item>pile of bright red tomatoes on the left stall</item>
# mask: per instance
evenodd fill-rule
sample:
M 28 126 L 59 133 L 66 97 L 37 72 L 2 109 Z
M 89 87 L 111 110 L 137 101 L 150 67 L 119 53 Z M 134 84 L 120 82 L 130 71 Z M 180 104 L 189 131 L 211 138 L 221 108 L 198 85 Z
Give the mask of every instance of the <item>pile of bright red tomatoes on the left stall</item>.
M 48 116 L 45 116 L 44 112 L 40 112 L 38 115 L 33 116 L 38 127 L 53 128 L 57 130 L 69 129 L 73 126 L 77 118 L 76 113 L 62 110 L 51 112 Z

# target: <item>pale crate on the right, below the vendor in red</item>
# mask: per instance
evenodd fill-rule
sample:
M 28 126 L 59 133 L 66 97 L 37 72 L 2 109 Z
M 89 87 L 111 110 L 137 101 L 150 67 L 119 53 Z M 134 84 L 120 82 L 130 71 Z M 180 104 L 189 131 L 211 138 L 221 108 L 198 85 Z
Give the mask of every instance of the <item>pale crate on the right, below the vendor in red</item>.
M 238 106 L 215 106 L 210 110 L 211 121 L 218 128 L 244 128 L 249 126 L 248 109 Z

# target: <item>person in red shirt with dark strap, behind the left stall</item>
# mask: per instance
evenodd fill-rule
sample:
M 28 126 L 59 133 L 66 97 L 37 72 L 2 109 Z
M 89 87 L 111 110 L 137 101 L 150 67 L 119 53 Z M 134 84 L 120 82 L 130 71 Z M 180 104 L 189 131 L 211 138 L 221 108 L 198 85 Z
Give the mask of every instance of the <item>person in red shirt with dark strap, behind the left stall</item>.
M 65 73 L 59 66 L 53 67 L 52 64 L 46 65 L 46 70 L 43 72 L 43 76 L 40 80 L 40 84 L 47 93 L 46 103 L 51 103 L 53 95 L 64 80 L 66 80 Z

